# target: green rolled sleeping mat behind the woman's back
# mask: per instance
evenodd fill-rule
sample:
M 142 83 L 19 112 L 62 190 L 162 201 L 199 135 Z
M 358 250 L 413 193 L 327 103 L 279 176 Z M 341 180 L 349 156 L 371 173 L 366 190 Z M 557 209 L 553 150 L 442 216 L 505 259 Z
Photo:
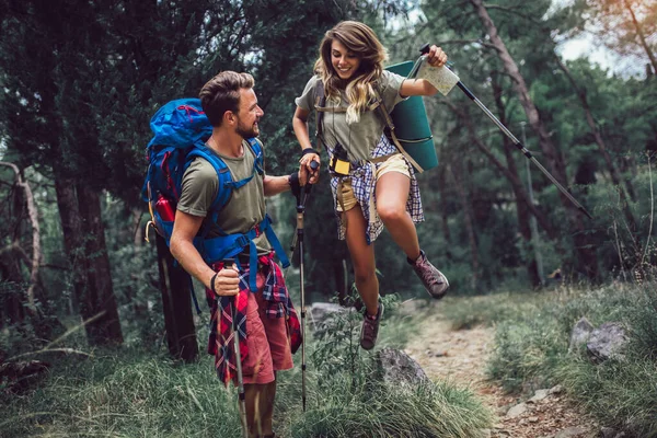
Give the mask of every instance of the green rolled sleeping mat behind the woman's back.
M 406 61 L 389 66 L 385 70 L 407 77 L 413 66 L 413 61 Z M 416 170 L 422 172 L 436 168 L 438 157 L 422 96 L 411 96 L 400 102 L 390 116 L 400 143 L 422 168 L 422 170 Z

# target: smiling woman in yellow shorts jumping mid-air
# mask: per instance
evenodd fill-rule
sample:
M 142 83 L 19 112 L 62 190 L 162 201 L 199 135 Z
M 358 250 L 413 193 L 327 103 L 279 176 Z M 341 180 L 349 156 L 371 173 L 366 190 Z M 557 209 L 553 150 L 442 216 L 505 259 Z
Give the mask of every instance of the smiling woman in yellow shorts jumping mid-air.
M 385 48 L 370 27 L 354 21 L 338 23 L 322 39 L 315 76 L 296 99 L 292 118 L 302 148 L 300 162 L 312 171 L 310 162 L 319 162 L 320 157 L 310 141 L 308 116 L 325 96 L 325 103 L 318 105 L 323 113 L 319 138 L 331 158 L 338 235 L 347 241 L 356 287 L 366 307 L 360 332 L 365 349 L 373 348 L 383 314 L 372 244 L 383 226 L 434 298 L 442 298 L 449 287 L 419 247 L 415 222 L 423 221 L 424 215 L 417 181 L 413 168 L 383 134 L 385 123 L 376 108 L 379 97 L 381 108 L 391 112 L 404 97 L 433 95 L 437 90 L 424 79 L 383 70 L 385 59 Z M 441 67 L 447 55 L 431 46 L 427 60 Z

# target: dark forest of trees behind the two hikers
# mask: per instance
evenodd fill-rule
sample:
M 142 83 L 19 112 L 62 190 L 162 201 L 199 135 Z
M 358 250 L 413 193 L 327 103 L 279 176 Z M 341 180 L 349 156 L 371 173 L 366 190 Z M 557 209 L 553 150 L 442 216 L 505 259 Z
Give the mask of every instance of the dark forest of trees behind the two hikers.
M 267 172 L 290 173 L 293 97 L 324 32 L 345 19 L 377 31 L 389 64 L 415 60 L 424 43 L 441 46 L 462 82 L 592 216 L 459 90 L 426 99 L 440 164 L 418 176 L 418 233 L 451 293 L 654 276 L 655 2 L 0 0 L 0 364 L 80 324 L 91 347 L 166 344 L 195 360 L 188 280 L 152 230 L 145 242 L 149 119 L 221 70 L 251 72 Z M 566 60 L 562 47 L 583 36 L 618 65 Z M 353 276 L 327 181 L 306 210 L 306 291 L 344 302 Z M 289 246 L 292 197 L 268 208 Z M 387 233 L 377 265 L 383 293 L 424 293 Z

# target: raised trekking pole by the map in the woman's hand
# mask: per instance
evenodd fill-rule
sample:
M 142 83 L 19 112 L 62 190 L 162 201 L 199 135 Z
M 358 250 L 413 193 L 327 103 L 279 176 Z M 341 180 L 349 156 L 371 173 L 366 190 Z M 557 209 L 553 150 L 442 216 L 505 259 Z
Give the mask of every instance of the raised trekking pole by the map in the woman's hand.
M 425 59 L 425 55 L 427 55 L 429 53 L 429 45 L 425 44 L 424 46 L 422 46 L 419 51 L 422 53 L 422 56 L 415 62 L 415 66 L 413 67 L 411 74 L 408 74 L 410 78 L 413 77 L 413 74 L 415 74 L 417 72 L 419 72 L 420 77 L 423 76 L 420 66 Z M 554 184 L 556 186 L 556 188 L 558 188 L 560 192 L 563 193 L 568 198 L 568 200 L 570 200 L 570 203 L 573 203 L 573 205 L 575 207 L 577 207 L 577 209 L 579 209 L 579 211 L 581 211 L 584 215 L 586 215 L 589 219 L 593 218 L 581 206 L 581 204 L 579 204 L 577 201 L 577 199 L 575 199 L 575 197 L 573 195 L 570 195 L 570 193 L 563 185 L 561 185 L 561 183 L 558 181 L 556 181 L 556 178 L 554 176 L 552 176 L 552 174 L 550 172 L 548 172 L 548 170 L 545 168 L 543 168 L 543 165 L 532 155 L 532 153 L 525 147 L 525 145 L 522 145 L 520 142 L 520 140 L 518 140 L 516 138 L 516 136 L 514 136 L 511 134 L 511 131 L 508 130 L 507 127 L 504 126 L 502 124 L 502 122 L 499 122 L 497 119 L 497 117 L 495 117 L 495 115 L 493 115 L 493 113 L 491 113 L 491 111 L 479 99 L 476 99 L 476 96 L 474 94 L 472 94 L 472 92 L 463 84 L 463 82 L 461 82 L 461 80 L 459 79 L 459 77 L 457 74 L 454 74 L 449 68 L 447 68 L 447 66 L 441 69 L 436 69 L 436 70 L 439 72 L 438 72 L 438 74 L 436 74 L 434 80 L 431 80 L 429 78 L 426 78 L 426 79 L 429 80 L 429 82 L 431 82 L 431 84 L 434 87 L 436 87 L 438 89 L 438 91 L 440 91 L 440 93 L 442 93 L 443 95 L 447 95 L 447 93 L 449 93 L 449 91 L 453 88 L 453 85 L 457 85 L 458 88 L 460 88 L 461 91 L 463 93 L 465 93 L 465 95 L 468 97 L 470 97 L 476 104 L 476 106 L 479 106 L 488 116 L 488 118 L 491 118 L 491 120 L 493 120 L 493 123 L 495 123 L 495 125 L 497 125 L 497 127 L 514 142 L 514 146 L 516 148 L 518 148 L 525 154 L 525 157 L 527 157 L 528 160 L 530 160 L 532 163 L 534 163 L 535 166 L 539 168 L 539 170 L 541 172 L 543 172 L 543 174 L 548 177 L 548 180 L 550 180 L 552 182 L 552 184 Z M 429 73 L 429 74 L 431 74 L 431 73 Z M 437 82 L 437 83 L 434 83 L 434 82 Z

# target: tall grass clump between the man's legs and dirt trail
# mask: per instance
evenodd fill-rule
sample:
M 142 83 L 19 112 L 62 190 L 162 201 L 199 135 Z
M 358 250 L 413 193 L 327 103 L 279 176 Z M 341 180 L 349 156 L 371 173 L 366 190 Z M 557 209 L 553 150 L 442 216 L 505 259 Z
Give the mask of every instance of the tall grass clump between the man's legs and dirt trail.
M 388 296 L 383 301 L 387 312 L 393 313 L 396 297 Z M 298 388 L 295 393 L 287 392 L 296 397 L 285 402 L 286 406 L 296 406 L 284 429 L 290 437 L 485 436 L 492 415 L 469 390 L 443 382 L 411 387 L 378 379 L 377 350 L 400 346 L 415 334 L 413 319 L 395 314 L 385 318 L 372 353 L 359 346 L 361 321 L 355 311 L 338 314 L 331 331 L 311 345 L 312 378 L 306 414 L 300 414 Z M 295 373 L 288 377 L 299 379 L 298 369 Z

